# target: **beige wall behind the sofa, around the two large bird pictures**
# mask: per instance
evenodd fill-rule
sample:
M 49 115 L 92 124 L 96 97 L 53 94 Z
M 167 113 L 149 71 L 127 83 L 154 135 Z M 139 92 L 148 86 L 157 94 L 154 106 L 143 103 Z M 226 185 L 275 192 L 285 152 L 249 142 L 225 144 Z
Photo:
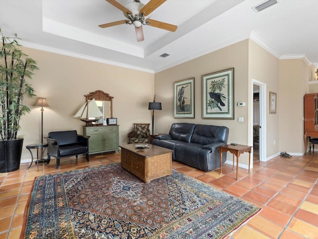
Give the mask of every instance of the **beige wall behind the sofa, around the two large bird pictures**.
M 155 131 L 168 132 L 173 122 L 189 122 L 210 125 L 225 125 L 230 128 L 228 142 L 248 142 L 248 40 L 206 54 L 183 64 L 155 74 L 156 99 L 162 103 L 162 111 L 155 112 Z M 202 119 L 202 75 L 234 67 L 234 119 Z M 195 119 L 173 118 L 173 83 L 194 77 Z M 245 107 L 238 107 L 245 102 Z M 244 122 L 238 122 L 244 117 Z M 240 163 L 247 164 L 246 155 Z M 229 156 L 228 156 L 229 157 Z M 229 158 L 228 158 L 229 159 Z M 230 158 L 231 159 L 231 158 Z

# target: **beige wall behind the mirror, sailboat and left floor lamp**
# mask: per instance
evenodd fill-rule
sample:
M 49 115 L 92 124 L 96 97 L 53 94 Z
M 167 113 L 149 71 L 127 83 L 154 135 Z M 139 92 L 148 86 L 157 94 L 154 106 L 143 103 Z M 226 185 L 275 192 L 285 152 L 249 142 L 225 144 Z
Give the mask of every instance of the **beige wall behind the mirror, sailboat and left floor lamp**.
M 120 125 L 120 143 L 127 143 L 134 122 L 151 123 L 148 103 L 154 98 L 154 74 L 31 48 L 24 51 L 39 67 L 30 83 L 37 97 L 46 98 L 50 105 L 43 114 L 44 136 L 50 131 L 70 129 L 82 134 L 84 122 L 73 117 L 84 104 L 84 95 L 96 90 L 114 97 L 113 117 Z M 24 100 L 31 108 L 31 114 L 21 120 L 19 134 L 24 136 L 24 145 L 41 141 L 41 111 L 33 107 L 35 103 L 36 99 Z M 30 158 L 24 148 L 21 159 Z

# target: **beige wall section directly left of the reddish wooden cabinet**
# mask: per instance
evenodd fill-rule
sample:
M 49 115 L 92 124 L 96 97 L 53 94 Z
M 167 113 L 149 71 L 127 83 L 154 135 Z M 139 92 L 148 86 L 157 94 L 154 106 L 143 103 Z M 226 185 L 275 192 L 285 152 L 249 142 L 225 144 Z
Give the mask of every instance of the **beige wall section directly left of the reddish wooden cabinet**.
M 303 59 L 292 59 L 280 60 L 279 69 L 279 150 L 302 153 L 304 95 L 308 93 L 310 67 Z

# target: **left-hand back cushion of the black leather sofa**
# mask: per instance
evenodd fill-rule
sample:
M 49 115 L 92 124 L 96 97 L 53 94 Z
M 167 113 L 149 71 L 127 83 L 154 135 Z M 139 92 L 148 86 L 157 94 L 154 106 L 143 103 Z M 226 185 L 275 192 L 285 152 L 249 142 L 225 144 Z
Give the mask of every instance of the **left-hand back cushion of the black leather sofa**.
M 189 143 L 194 127 L 194 123 L 172 123 L 169 134 L 174 140 L 180 140 Z

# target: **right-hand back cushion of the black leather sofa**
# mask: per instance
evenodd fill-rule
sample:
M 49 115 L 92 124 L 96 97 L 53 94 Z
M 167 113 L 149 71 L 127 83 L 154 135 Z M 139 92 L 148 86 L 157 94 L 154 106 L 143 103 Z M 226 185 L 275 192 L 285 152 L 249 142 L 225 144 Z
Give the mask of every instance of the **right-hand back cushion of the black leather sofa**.
M 197 124 L 194 127 L 191 143 L 210 144 L 215 142 L 227 142 L 229 128 L 225 126 Z

